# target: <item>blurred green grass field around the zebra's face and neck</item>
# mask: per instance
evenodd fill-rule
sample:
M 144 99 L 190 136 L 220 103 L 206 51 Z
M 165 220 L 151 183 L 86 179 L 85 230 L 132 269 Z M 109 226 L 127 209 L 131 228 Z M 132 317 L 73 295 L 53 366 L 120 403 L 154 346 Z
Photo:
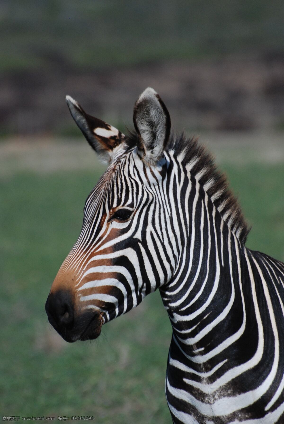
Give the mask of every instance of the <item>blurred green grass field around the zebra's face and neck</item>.
M 284 260 L 283 165 L 222 169 L 253 224 L 247 246 Z M 0 179 L 0 412 L 170 424 L 164 378 L 171 330 L 159 293 L 104 326 L 92 343 L 65 343 L 47 322 L 47 294 L 98 177 L 70 170 Z

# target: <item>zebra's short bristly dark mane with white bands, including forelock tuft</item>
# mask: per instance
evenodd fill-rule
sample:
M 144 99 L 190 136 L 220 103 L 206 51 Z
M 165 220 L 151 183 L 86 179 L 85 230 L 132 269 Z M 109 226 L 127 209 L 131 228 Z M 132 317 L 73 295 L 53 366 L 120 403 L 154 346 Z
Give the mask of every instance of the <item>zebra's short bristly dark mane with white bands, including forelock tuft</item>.
M 133 148 L 137 143 L 137 134 L 130 132 L 126 142 Z M 224 173 L 217 169 L 214 157 L 198 142 L 198 138 L 188 138 L 185 134 L 170 134 L 166 151 L 173 151 L 175 156 L 186 166 L 192 176 L 203 186 L 223 220 L 237 238 L 245 243 L 250 229 L 239 206 L 239 202 L 228 188 Z

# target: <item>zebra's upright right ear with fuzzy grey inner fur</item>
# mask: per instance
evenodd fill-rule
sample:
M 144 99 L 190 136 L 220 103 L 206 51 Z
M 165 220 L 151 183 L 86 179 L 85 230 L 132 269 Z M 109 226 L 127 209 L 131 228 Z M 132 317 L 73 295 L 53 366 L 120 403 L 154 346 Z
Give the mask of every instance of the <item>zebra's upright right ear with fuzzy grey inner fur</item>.
M 170 135 L 170 114 L 153 88 L 146 88 L 136 101 L 133 122 L 139 136 L 138 150 L 149 165 L 162 156 Z

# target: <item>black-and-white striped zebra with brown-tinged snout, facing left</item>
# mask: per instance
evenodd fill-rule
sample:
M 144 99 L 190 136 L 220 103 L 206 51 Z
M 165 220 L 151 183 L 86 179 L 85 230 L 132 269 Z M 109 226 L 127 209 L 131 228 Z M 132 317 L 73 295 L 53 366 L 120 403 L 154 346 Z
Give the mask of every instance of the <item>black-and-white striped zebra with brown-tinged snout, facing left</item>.
M 66 101 L 108 167 L 48 295 L 50 324 L 68 342 L 95 339 L 159 289 L 173 423 L 284 423 L 284 264 L 245 247 L 248 226 L 210 153 L 171 131 L 150 87 L 127 136 Z

